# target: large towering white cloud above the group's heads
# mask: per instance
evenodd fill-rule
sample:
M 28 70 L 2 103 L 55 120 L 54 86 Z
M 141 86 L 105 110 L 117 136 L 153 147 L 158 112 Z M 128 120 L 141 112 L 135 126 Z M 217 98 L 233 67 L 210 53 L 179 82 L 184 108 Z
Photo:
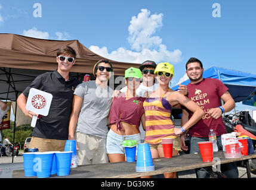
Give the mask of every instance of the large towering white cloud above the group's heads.
M 141 63 L 146 60 L 155 62 L 170 62 L 175 64 L 181 61 L 182 52 L 179 49 L 169 51 L 166 45 L 162 44 L 159 36 L 153 36 L 157 29 L 162 27 L 163 14 L 152 14 L 147 9 L 141 9 L 141 12 L 133 16 L 128 27 L 128 42 L 131 49 L 119 47 L 112 52 L 107 47 L 90 46 L 89 49 L 105 58 L 122 62 Z

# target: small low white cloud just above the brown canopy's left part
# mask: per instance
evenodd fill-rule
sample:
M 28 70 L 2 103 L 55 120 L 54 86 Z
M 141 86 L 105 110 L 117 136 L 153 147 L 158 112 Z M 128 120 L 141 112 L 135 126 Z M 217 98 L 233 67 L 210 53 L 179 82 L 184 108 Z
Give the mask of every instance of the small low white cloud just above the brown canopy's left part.
M 55 32 L 56 37 L 50 37 L 50 34 L 47 31 L 40 31 L 33 27 L 33 29 L 23 30 L 23 35 L 28 37 L 35 37 L 38 39 L 52 39 L 52 40 L 67 40 L 69 39 L 69 34 L 66 32 Z

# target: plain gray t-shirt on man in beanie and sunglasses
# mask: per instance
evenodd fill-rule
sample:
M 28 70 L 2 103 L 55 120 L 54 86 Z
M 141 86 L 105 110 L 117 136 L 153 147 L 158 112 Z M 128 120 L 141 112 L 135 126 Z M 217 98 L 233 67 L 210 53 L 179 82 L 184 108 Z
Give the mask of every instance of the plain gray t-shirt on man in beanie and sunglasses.
M 83 99 L 76 132 L 107 138 L 107 116 L 113 90 L 109 86 L 101 88 L 95 81 L 87 81 L 79 84 L 74 94 Z

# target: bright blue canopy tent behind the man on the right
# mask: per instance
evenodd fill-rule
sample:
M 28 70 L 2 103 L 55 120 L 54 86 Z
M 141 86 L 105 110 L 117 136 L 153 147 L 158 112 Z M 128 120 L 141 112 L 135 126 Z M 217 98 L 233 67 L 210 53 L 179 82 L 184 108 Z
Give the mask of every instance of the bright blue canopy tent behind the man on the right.
M 211 66 L 203 72 L 203 78 L 218 78 L 227 88 L 235 102 L 241 102 L 250 96 L 256 90 L 256 74 L 248 72 L 235 71 L 233 69 Z M 181 84 L 187 85 L 190 80 Z M 173 90 L 177 90 L 179 85 L 175 85 Z

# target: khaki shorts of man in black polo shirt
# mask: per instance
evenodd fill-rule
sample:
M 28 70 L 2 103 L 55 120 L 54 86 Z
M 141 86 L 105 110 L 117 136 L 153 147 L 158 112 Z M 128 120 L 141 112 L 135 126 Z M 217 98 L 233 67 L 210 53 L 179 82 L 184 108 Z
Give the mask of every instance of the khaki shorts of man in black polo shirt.
M 39 152 L 64 151 L 66 140 L 32 137 L 29 148 L 38 148 Z

